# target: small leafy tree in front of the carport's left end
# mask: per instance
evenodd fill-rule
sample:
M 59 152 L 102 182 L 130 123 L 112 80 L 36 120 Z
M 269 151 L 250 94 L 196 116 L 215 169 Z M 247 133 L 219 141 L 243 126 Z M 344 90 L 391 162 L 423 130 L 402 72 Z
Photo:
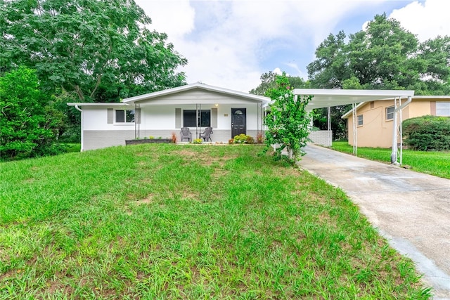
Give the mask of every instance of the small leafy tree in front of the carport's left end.
M 286 149 L 290 163 L 294 164 L 304 155 L 302 148 L 309 141 L 311 117 L 305 107 L 312 96 L 296 98 L 284 72 L 276 76 L 276 88 L 267 91 L 266 96 L 273 100 L 271 113 L 264 119 L 266 150 L 277 145 L 274 156 L 280 159 L 281 152 Z

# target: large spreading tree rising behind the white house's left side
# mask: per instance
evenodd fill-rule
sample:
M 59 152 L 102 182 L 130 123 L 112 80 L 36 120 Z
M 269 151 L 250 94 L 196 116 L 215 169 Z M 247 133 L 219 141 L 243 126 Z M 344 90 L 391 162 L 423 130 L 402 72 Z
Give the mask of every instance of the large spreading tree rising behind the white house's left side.
M 0 0 L 0 73 L 26 65 L 45 89 L 110 102 L 184 84 L 186 59 L 133 0 Z

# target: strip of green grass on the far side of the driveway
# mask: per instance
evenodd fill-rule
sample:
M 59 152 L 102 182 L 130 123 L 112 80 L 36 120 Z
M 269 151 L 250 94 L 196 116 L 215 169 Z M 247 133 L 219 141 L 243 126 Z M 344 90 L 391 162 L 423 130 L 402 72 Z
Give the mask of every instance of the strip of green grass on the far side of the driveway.
M 333 142 L 333 150 L 350 153 L 353 147 L 347 141 Z M 378 162 L 390 163 L 392 150 L 358 147 L 358 156 Z M 414 171 L 450 179 L 450 152 L 403 150 L 403 165 Z

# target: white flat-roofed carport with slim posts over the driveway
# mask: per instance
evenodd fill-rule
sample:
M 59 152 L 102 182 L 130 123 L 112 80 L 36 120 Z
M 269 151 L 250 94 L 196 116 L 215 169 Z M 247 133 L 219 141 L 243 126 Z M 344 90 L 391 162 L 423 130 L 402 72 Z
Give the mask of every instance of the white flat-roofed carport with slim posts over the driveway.
M 404 109 L 414 96 L 414 91 L 406 90 L 340 90 L 340 89 L 295 89 L 295 100 L 298 96 L 313 96 L 307 105 L 307 110 L 328 107 L 328 131 L 331 130 L 330 107 L 352 104 L 353 113 L 353 154 L 357 154 L 358 136 L 356 124 L 356 104 L 368 101 L 386 100 L 394 98 L 394 126 L 392 129 L 392 164 L 401 164 L 402 161 L 402 138 L 401 138 L 401 110 Z M 404 100 L 402 102 L 402 100 Z M 400 121 L 400 122 L 399 122 Z M 399 133 L 400 138 L 397 137 Z M 400 144 L 400 151 L 398 151 Z M 400 160 L 400 163 L 399 163 Z

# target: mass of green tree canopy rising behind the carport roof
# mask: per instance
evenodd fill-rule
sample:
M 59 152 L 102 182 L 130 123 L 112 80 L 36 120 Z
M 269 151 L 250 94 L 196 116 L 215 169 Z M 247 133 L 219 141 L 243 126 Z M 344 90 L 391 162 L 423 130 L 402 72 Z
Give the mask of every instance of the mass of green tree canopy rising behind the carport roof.
M 417 95 L 450 91 L 450 37 L 420 43 L 400 22 L 375 15 L 365 30 L 330 34 L 307 66 L 321 89 L 413 89 Z

